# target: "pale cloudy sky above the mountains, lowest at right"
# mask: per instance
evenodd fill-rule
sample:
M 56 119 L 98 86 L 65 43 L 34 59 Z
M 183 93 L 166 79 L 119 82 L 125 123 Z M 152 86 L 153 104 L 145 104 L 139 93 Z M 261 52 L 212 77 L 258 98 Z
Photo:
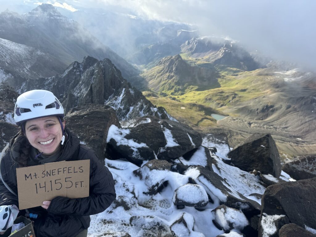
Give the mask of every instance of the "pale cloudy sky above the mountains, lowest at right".
M 7 1 L 0 0 L 0 10 Z M 311 69 L 316 64 L 316 1 L 314 0 L 68 0 L 22 1 L 55 3 L 74 10 L 96 7 L 124 11 L 149 19 L 199 26 L 204 35 L 228 36 L 277 59 Z M 12 3 L 11 3 L 12 4 Z M 121 9 L 121 8 L 120 8 Z M 14 10 L 14 9 L 10 9 Z M 122 9 L 121 9 L 122 10 Z

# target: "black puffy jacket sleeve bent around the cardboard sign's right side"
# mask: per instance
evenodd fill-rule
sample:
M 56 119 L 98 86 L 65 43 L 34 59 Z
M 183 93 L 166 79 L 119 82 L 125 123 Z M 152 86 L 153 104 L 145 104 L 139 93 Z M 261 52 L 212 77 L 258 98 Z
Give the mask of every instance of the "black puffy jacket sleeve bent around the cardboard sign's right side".
M 116 198 L 114 180 L 107 167 L 98 160 L 90 149 L 82 160 L 90 159 L 89 197 L 55 197 L 47 211 L 56 215 L 88 216 L 100 213 L 108 208 Z

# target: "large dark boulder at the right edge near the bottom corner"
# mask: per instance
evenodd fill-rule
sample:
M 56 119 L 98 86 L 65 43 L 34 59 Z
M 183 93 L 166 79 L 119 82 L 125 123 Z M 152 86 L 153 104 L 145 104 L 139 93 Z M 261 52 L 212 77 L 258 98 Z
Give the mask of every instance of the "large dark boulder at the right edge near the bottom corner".
M 286 216 L 298 226 L 316 229 L 316 178 L 270 185 L 262 197 L 261 219 L 264 215 Z M 262 224 L 259 222 L 259 229 Z M 279 226 L 281 228 L 281 226 Z

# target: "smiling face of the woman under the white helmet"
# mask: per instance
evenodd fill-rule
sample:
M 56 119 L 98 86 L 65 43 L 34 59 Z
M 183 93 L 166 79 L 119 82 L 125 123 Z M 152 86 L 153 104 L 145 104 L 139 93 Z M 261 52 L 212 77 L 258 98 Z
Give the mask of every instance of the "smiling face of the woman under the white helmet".
M 65 128 L 65 121 L 63 126 Z M 59 119 L 51 116 L 28 120 L 25 124 L 25 136 L 43 155 L 50 156 L 58 150 L 63 133 Z

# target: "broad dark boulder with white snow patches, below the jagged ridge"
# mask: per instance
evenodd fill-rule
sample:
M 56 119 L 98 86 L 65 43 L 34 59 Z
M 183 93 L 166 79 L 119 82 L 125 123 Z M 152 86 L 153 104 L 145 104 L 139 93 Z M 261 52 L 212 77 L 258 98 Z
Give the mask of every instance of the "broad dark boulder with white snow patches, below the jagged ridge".
M 112 126 L 107 142 L 120 157 L 140 165 L 144 160 L 178 158 L 202 143 L 200 134 L 179 122 L 146 116 L 127 128 Z

